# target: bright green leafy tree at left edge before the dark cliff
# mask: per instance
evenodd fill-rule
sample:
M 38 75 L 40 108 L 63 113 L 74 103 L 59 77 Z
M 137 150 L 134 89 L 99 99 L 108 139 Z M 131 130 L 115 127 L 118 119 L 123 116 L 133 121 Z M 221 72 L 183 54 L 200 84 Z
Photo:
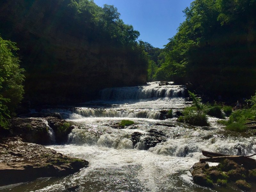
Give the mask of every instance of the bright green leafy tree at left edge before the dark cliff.
M 0 128 L 4 129 L 8 127 L 7 118 L 14 112 L 24 93 L 24 70 L 15 56 L 17 50 L 15 43 L 0 37 Z

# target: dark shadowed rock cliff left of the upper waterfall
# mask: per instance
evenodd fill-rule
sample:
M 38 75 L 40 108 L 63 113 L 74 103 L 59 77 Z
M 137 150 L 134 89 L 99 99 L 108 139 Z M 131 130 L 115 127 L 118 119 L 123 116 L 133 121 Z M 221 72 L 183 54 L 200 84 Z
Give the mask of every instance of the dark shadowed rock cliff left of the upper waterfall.
M 25 99 L 32 105 L 74 103 L 94 99 L 106 87 L 145 84 L 147 63 L 140 55 L 86 34 L 70 2 L 0 2 L 0 34 L 17 43 L 26 70 Z

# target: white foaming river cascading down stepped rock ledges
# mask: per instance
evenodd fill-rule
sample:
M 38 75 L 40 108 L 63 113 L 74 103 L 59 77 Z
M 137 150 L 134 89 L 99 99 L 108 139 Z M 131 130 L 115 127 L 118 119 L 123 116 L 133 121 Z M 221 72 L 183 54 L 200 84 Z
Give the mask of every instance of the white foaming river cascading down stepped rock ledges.
M 251 155 L 256 152 L 255 137 L 225 131 L 213 117 L 208 117 L 210 127 L 178 123 L 175 112 L 189 105 L 184 92 L 181 85 L 152 82 L 104 89 L 101 100 L 83 107 L 46 109 L 82 128 L 72 130 L 67 144 L 47 147 L 86 159 L 89 167 L 67 177 L 42 178 L 3 191 L 62 192 L 67 191 L 65 186 L 77 184 L 79 192 L 239 191 L 198 186 L 189 170 L 202 157 L 202 150 Z M 169 109 L 173 118 L 168 119 Z M 117 129 L 123 119 L 135 124 Z

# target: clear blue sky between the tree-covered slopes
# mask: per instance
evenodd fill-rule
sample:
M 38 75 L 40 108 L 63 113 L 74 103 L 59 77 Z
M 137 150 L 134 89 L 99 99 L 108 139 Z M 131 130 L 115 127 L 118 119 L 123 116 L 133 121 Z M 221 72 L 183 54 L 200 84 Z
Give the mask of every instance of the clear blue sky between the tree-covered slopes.
M 174 36 L 180 23 L 185 20 L 182 12 L 193 0 L 94 0 L 114 5 L 125 24 L 130 24 L 140 32 L 142 41 L 154 47 L 163 48 Z

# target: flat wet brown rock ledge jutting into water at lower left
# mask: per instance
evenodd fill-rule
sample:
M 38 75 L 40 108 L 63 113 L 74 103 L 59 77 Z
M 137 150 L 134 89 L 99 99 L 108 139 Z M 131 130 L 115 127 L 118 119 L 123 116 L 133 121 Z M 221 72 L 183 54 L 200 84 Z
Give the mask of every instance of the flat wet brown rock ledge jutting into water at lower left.
M 40 177 L 61 177 L 88 166 L 83 159 L 70 158 L 42 145 L 25 143 L 19 137 L 0 140 L 0 186 Z

